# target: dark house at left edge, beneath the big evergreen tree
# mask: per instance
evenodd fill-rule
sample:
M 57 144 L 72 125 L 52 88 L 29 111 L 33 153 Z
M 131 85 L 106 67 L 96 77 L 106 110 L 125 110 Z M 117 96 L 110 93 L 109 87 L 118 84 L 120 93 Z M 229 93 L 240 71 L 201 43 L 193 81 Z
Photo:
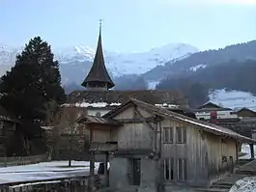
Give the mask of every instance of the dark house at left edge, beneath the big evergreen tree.
M 7 148 L 12 145 L 12 137 L 17 123 L 19 121 L 0 106 L 0 157 L 8 155 Z

